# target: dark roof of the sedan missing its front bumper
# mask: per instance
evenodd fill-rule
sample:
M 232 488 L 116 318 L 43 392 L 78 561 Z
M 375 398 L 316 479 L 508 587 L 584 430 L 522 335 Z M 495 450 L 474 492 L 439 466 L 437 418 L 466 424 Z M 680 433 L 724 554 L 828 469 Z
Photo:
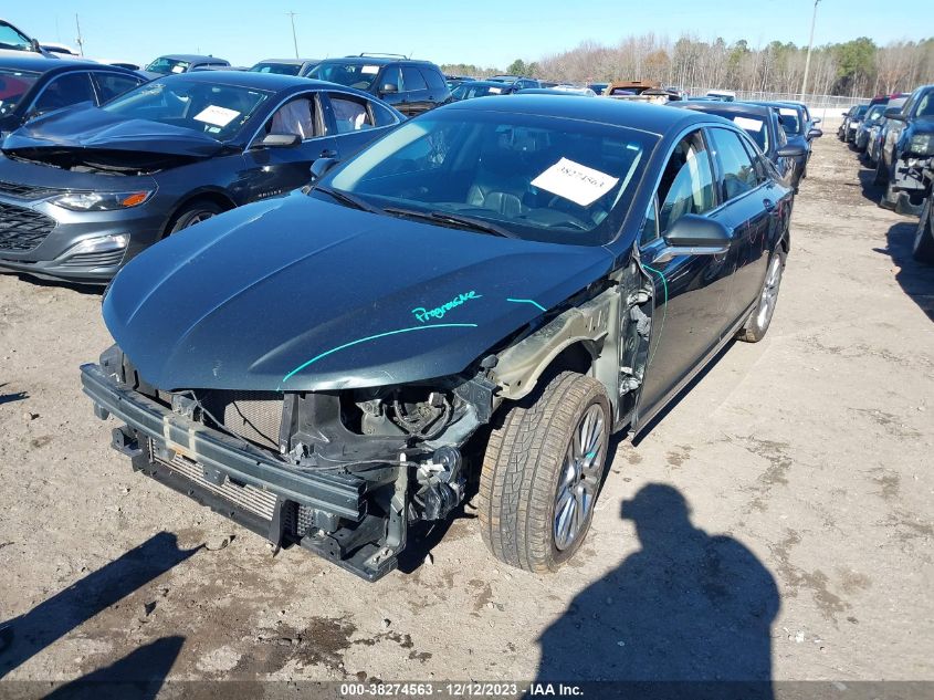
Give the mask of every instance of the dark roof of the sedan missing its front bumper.
M 669 109 L 663 105 L 634 104 L 618 100 L 567 100 L 566 95 L 511 95 L 508 100 L 496 96 L 478 97 L 438 108 L 579 119 L 610 126 L 627 126 L 659 135 L 692 124 L 721 123 L 714 115 L 693 109 Z

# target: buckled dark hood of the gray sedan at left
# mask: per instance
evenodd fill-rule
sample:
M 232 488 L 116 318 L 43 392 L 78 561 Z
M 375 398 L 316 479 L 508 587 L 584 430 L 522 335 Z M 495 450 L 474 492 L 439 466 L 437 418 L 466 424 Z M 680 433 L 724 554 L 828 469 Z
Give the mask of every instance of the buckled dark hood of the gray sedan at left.
M 125 119 L 87 104 L 56 109 L 17 129 L 4 153 L 129 152 L 208 158 L 224 145 L 207 134 L 147 119 Z

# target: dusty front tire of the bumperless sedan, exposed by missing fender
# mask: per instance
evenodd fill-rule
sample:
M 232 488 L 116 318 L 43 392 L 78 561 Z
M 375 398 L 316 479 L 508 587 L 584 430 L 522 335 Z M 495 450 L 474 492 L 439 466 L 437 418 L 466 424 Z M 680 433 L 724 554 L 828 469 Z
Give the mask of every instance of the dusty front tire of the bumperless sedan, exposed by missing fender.
M 597 407 L 591 411 L 591 407 Z M 573 439 L 584 430 L 586 416 L 602 417 L 599 447 L 590 451 L 590 467 L 580 467 L 592 488 L 576 536 L 559 548 L 556 539 L 556 505 L 564 491 L 563 477 L 579 462 L 568 462 Z M 500 561 L 529 572 L 555 571 L 584 542 L 602 483 L 609 443 L 610 406 L 604 386 L 575 372 L 563 372 L 532 396 L 508 407 L 490 435 L 480 474 L 479 520 L 483 541 Z M 591 452 L 594 453 L 591 456 Z M 592 482 L 592 483 L 591 483 Z M 581 487 L 583 488 L 583 487 Z M 562 489 L 559 491 L 559 489 Z M 566 506 L 579 508 L 566 501 Z M 570 514 L 566 516 L 570 519 Z

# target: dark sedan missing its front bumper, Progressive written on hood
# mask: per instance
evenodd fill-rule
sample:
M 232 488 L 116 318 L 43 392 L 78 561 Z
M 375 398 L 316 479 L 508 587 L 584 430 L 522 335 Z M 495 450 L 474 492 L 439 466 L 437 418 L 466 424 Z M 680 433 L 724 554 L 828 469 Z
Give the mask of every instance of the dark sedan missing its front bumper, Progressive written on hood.
M 136 469 L 369 581 L 474 492 L 557 568 L 610 435 L 772 321 L 791 190 L 720 117 L 479 98 L 330 165 L 130 261 L 82 382 Z

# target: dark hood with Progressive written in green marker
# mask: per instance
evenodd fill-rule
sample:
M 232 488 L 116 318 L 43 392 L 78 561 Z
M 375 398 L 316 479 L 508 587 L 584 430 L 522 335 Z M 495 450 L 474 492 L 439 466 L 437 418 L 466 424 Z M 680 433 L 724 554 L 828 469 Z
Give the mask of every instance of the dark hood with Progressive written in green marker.
M 154 245 L 104 320 L 161 389 L 329 390 L 456 374 L 606 274 L 600 247 L 497 238 L 295 192 Z

